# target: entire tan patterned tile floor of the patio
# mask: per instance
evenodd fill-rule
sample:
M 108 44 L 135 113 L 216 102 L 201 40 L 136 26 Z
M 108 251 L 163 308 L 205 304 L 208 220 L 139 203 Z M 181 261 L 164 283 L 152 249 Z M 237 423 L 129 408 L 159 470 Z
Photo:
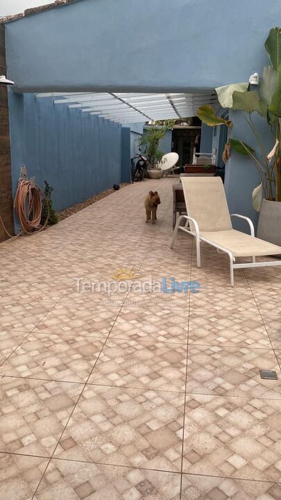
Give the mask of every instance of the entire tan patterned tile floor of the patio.
M 0 245 L 0 500 L 281 499 L 281 273 L 230 288 L 214 249 L 201 269 L 186 235 L 169 249 L 173 182 Z M 135 288 L 164 277 L 201 290 Z

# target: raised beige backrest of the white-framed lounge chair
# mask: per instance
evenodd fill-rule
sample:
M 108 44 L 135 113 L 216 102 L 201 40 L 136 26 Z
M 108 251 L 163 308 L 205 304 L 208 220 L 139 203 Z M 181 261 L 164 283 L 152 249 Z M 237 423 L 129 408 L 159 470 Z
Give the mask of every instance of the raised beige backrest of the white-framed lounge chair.
M 196 220 L 200 232 L 232 229 L 221 177 L 181 177 L 180 180 L 187 214 Z

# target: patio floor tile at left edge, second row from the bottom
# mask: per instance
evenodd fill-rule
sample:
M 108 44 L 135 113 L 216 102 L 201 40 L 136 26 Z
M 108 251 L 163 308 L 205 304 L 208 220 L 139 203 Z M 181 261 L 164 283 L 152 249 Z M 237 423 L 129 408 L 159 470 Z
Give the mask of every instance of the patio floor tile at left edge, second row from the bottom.
M 0 378 L 0 451 L 51 456 L 82 389 L 75 383 Z

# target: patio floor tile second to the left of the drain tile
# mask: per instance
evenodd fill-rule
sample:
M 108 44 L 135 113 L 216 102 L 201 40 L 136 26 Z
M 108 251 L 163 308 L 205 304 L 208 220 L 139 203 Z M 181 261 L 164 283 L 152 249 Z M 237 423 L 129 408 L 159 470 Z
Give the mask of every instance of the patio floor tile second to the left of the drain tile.
M 85 382 L 102 347 L 94 337 L 34 333 L 3 363 L 0 375 Z

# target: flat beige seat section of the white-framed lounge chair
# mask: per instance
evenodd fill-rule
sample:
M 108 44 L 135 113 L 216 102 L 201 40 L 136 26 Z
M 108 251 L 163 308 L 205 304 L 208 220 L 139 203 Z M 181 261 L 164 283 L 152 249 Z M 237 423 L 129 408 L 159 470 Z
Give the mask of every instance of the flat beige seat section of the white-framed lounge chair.
M 281 254 L 281 247 L 259 238 L 231 229 L 230 231 L 203 231 L 201 238 L 230 250 L 234 257 L 266 256 Z M 280 255 L 281 256 L 281 255 Z

